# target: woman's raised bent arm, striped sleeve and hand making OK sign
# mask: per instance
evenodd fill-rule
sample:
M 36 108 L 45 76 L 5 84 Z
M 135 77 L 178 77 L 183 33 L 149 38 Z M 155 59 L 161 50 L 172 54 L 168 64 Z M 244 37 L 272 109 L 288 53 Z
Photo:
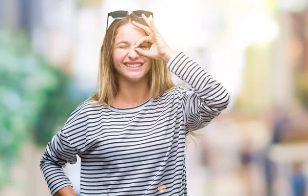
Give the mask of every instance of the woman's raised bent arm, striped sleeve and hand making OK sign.
M 168 69 L 190 84 L 192 89 L 183 89 L 181 105 L 186 126 L 186 134 L 206 126 L 230 101 L 229 93 L 223 86 L 203 70 L 198 63 L 183 53 L 176 55 L 156 29 L 153 19 L 142 15 L 147 26 L 132 21 L 132 24 L 145 31 L 148 36 L 141 37 L 135 50 L 145 57 L 164 60 Z M 139 48 L 143 42 L 150 42 L 149 50 Z

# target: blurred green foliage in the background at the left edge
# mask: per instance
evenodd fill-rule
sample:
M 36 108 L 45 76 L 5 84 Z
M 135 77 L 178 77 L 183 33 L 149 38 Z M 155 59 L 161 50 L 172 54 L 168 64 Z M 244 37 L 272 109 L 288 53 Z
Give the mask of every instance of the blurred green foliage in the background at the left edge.
M 0 30 L 0 188 L 23 142 L 45 147 L 80 102 L 69 81 L 31 50 L 25 33 Z

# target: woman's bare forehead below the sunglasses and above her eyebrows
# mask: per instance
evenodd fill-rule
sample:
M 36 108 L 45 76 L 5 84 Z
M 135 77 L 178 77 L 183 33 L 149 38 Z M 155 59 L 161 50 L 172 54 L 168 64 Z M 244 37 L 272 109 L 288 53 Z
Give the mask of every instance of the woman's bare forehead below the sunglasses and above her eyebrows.
M 143 30 L 132 25 L 131 23 L 128 23 L 119 27 L 114 42 L 115 43 L 120 41 L 136 42 L 143 36 L 147 36 Z

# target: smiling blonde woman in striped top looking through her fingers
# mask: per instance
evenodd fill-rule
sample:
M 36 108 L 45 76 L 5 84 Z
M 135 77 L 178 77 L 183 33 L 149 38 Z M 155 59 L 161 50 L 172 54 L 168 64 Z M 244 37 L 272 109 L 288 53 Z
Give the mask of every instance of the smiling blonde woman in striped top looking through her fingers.
M 81 195 L 186 195 L 185 138 L 229 102 L 218 81 L 168 47 L 151 12 L 120 12 L 108 14 L 116 20 L 103 41 L 97 93 L 42 157 L 51 194 L 75 195 L 63 167 L 79 155 Z M 170 71 L 191 88 L 175 86 Z

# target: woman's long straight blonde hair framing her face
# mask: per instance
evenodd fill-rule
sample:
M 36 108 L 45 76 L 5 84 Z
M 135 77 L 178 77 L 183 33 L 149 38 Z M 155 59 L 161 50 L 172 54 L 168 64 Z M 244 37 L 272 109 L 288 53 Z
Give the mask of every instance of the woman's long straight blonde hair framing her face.
M 96 105 L 110 105 L 119 90 L 117 71 L 113 66 L 112 51 L 114 38 L 119 27 L 136 21 L 146 26 L 145 21 L 133 14 L 114 20 L 106 32 L 103 45 L 101 47 L 100 65 L 98 74 L 98 90 L 88 99 L 94 100 Z M 157 98 L 160 94 L 175 87 L 171 79 L 171 72 L 167 69 L 167 62 L 152 59 L 152 67 L 149 71 L 148 82 L 150 85 L 150 97 Z

